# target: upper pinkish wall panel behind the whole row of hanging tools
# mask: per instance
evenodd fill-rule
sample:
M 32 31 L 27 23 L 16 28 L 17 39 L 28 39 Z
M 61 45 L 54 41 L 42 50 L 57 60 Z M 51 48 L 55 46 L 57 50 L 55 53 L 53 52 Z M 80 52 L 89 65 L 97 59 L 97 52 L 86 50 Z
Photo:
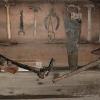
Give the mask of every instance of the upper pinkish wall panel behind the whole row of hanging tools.
M 10 21 L 11 21 L 11 36 L 13 40 L 44 40 L 48 39 L 48 32 L 44 27 L 44 19 L 48 15 L 49 10 L 52 6 L 48 3 L 36 4 L 41 8 L 36 14 L 37 20 L 37 34 L 33 35 L 33 10 L 30 9 L 30 6 L 33 4 L 17 4 L 16 6 L 10 7 Z M 56 39 L 66 39 L 65 29 L 64 29 L 64 4 L 55 4 L 55 11 L 60 18 L 60 26 L 56 31 Z M 20 21 L 20 11 L 24 11 L 24 29 L 25 36 L 18 35 L 19 31 L 19 21 Z M 88 9 L 84 6 L 81 7 L 82 12 L 82 28 L 81 28 L 81 39 L 87 40 L 88 34 Z M 0 7 L 0 40 L 7 39 L 7 30 L 6 30 L 6 8 Z M 53 20 L 55 23 L 55 20 Z M 98 34 L 100 33 L 100 11 L 98 7 L 92 9 L 92 40 L 98 40 Z

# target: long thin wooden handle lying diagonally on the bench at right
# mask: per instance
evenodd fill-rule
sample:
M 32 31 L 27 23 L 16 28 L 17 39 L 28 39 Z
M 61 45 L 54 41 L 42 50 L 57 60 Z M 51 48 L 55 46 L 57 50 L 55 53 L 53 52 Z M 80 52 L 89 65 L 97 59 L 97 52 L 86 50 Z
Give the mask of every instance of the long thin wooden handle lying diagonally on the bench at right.
M 86 65 L 84 65 L 83 67 L 81 67 L 81 68 L 79 68 L 77 70 L 74 70 L 74 71 L 72 71 L 70 73 L 64 74 L 62 76 L 59 76 L 59 77 L 53 79 L 53 83 L 55 83 L 57 81 L 60 81 L 60 80 L 62 80 L 64 78 L 68 78 L 68 77 L 71 77 L 73 75 L 79 74 L 79 73 L 81 73 L 81 72 L 83 72 L 83 71 L 85 71 L 85 70 L 87 70 L 89 68 L 92 68 L 94 66 L 97 66 L 98 64 L 100 64 L 100 58 L 98 58 L 97 60 L 92 61 L 92 62 L 90 62 L 90 63 L 88 63 Z

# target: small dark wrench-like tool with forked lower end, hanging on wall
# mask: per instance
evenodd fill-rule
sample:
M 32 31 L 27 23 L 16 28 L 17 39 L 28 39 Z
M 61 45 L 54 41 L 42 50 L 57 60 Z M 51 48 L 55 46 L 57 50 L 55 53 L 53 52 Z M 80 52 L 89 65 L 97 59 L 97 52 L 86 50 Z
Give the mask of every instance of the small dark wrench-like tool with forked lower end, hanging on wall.
M 19 26 L 18 35 L 23 34 L 25 35 L 24 31 L 24 21 L 23 21 L 23 10 L 20 11 L 20 26 Z

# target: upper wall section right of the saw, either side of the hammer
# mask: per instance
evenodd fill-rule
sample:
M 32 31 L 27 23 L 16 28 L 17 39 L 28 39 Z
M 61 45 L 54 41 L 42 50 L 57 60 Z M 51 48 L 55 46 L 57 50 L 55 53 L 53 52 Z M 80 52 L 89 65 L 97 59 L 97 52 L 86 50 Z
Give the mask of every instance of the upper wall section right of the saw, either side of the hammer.
M 100 34 L 100 10 L 98 7 L 92 8 L 91 13 L 92 28 L 91 28 L 91 41 L 99 41 Z M 82 29 L 81 39 L 87 40 L 88 34 L 88 8 L 82 7 Z

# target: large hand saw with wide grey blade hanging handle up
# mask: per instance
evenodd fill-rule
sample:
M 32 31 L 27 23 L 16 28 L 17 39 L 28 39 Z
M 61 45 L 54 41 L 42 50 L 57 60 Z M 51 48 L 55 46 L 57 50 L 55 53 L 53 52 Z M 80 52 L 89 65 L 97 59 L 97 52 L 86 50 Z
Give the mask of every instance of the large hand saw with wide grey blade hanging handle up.
M 81 13 L 78 6 L 66 6 L 64 25 L 67 35 L 68 64 L 71 70 L 75 70 L 78 67 L 78 41 L 81 32 Z

